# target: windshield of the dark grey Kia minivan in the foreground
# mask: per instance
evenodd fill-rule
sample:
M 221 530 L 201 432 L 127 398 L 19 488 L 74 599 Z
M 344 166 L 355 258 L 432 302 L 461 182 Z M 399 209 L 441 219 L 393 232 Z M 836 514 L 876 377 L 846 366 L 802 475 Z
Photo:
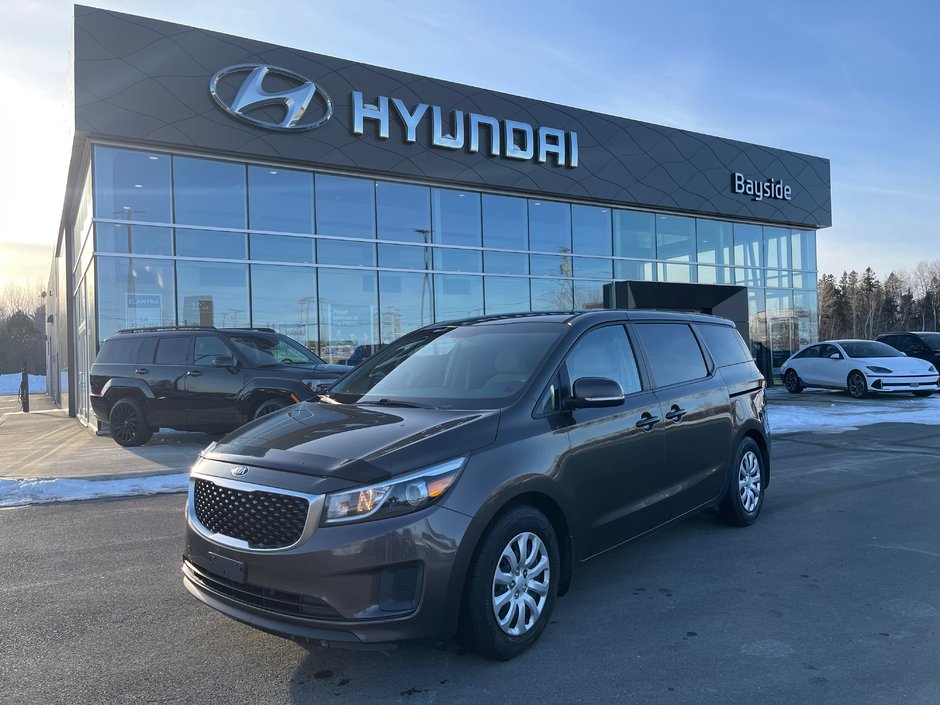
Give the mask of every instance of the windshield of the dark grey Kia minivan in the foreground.
M 417 331 L 340 380 L 329 398 L 447 409 L 508 406 L 566 330 L 559 323 L 517 321 Z

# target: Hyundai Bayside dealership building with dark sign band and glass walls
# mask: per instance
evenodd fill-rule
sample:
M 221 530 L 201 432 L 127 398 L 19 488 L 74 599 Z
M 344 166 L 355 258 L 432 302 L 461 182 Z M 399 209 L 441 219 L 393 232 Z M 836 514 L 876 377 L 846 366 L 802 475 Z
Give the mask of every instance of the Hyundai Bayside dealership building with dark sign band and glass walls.
M 83 420 L 132 327 L 270 327 L 337 362 L 468 316 L 696 310 L 768 377 L 816 340 L 826 159 L 82 6 L 73 79 L 45 301 Z

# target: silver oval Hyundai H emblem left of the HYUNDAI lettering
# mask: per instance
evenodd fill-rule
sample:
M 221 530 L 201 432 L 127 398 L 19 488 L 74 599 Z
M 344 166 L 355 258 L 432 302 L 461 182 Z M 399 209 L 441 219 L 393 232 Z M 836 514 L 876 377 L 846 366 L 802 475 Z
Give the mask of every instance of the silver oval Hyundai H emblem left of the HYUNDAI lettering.
M 263 86 L 265 79 L 268 89 Z M 326 91 L 299 73 L 278 66 L 226 66 L 209 81 L 209 94 L 230 115 L 269 130 L 312 130 L 333 115 L 333 100 Z M 318 118 L 307 110 L 314 97 L 323 103 Z

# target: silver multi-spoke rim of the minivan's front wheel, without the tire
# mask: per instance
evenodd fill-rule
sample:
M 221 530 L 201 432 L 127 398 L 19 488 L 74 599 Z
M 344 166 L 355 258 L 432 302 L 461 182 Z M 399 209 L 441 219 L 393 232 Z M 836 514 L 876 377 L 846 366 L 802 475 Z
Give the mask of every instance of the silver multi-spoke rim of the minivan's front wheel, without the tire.
M 517 534 L 499 557 L 493 574 L 493 615 L 509 636 L 521 636 L 538 622 L 551 582 L 548 548 L 537 534 Z

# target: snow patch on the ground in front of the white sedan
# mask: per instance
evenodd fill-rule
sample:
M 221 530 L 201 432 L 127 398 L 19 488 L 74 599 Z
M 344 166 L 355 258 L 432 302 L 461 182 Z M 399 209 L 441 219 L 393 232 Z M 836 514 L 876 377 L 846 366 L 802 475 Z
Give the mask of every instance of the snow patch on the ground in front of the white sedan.
M 940 425 L 940 393 L 926 399 L 874 396 L 863 401 L 768 403 L 771 433 L 842 433 L 878 423 Z

